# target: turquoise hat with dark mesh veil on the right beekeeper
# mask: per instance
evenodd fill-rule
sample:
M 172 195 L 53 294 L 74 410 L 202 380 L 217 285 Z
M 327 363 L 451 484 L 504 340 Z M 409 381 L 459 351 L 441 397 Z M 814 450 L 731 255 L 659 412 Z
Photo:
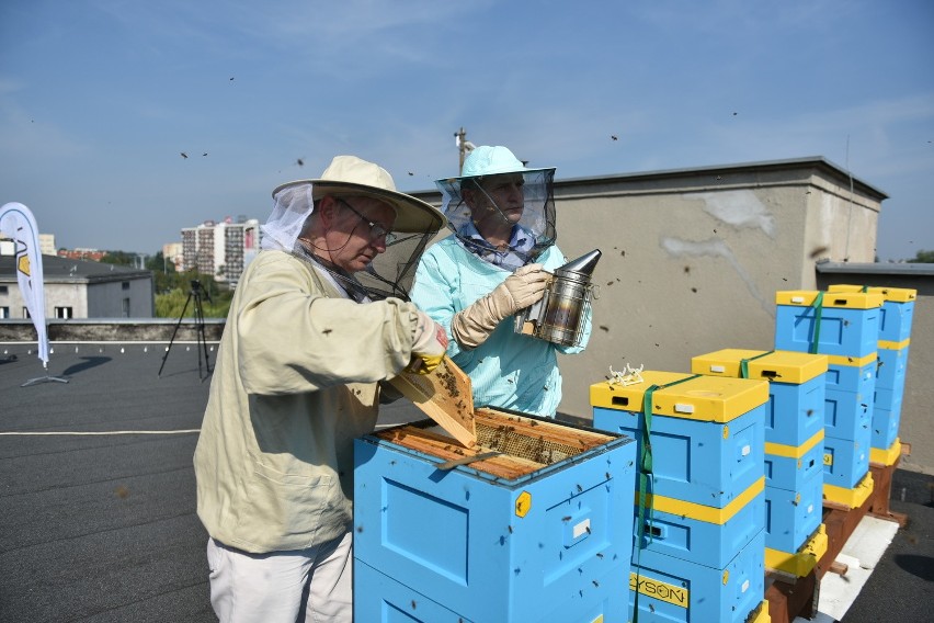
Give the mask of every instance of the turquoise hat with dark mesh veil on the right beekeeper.
M 493 175 L 504 173 L 521 174 L 523 180 L 524 208 L 519 220 L 517 233 L 510 243 L 509 252 L 517 257 L 520 264 L 534 262 L 548 247 L 555 243 L 557 230 L 555 224 L 554 179 L 555 169 L 526 169 L 525 166 L 505 147 L 483 145 L 474 149 L 464 160 L 459 178 L 436 180 L 442 193 L 441 212 L 447 217 L 447 226 L 460 242 L 471 250 L 479 250 L 483 257 L 483 242 L 477 239 L 470 206 L 464 201 L 465 189 L 483 192 L 483 182 Z M 485 193 L 486 194 L 486 193 Z M 487 194 L 490 203 L 496 205 Z M 496 206 L 502 214 L 501 207 Z M 505 216 L 503 215 L 503 218 Z M 504 265 L 512 270 L 519 265 Z

